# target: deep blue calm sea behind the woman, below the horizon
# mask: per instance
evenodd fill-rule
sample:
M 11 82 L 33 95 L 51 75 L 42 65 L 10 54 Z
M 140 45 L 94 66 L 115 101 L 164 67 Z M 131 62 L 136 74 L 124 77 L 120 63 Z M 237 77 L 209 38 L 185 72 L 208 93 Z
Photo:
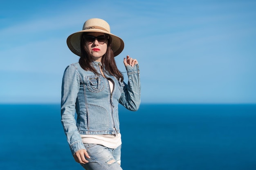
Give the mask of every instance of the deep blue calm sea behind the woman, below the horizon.
M 124 170 L 256 170 L 256 104 L 119 106 Z M 60 104 L 0 105 L 0 170 L 83 170 Z

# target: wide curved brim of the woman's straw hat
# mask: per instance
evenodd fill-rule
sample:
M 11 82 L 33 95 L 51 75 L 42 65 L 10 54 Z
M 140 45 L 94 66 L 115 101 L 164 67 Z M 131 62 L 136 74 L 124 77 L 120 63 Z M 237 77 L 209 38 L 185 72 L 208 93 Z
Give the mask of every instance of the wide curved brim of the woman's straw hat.
M 114 53 L 115 57 L 117 55 L 119 55 L 124 49 L 124 41 L 121 38 L 117 37 L 116 35 L 114 35 L 112 33 L 109 33 L 107 31 L 103 31 L 101 29 L 82 30 L 82 31 L 71 34 L 67 38 L 67 46 L 70 49 L 70 51 L 72 51 L 74 54 L 76 54 L 80 57 L 81 57 L 81 46 L 80 46 L 81 36 L 85 32 L 98 32 L 98 33 L 108 34 L 112 39 L 112 41 L 111 41 L 112 50 L 113 50 L 113 53 Z

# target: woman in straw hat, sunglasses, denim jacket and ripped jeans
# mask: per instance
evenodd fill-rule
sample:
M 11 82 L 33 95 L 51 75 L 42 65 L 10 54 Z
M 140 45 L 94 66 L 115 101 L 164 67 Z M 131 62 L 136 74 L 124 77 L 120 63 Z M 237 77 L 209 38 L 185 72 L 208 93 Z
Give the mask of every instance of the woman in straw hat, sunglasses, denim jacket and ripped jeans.
M 138 62 L 128 55 L 124 58 L 128 74 L 124 83 L 114 59 L 124 42 L 97 18 L 70 35 L 67 46 L 80 56 L 78 63 L 65 69 L 61 92 L 61 122 L 73 157 L 86 170 L 121 170 L 118 104 L 132 111 L 139 108 Z

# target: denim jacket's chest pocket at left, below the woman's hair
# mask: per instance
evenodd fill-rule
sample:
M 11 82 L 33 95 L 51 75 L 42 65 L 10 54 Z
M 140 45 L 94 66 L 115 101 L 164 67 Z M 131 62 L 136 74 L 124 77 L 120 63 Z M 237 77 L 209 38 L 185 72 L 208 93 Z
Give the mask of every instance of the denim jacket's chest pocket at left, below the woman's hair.
M 90 75 L 85 77 L 87 88 L 90 92 L 98 93 L 103 91 L 104 84 L 101 80 L 101 77 Z

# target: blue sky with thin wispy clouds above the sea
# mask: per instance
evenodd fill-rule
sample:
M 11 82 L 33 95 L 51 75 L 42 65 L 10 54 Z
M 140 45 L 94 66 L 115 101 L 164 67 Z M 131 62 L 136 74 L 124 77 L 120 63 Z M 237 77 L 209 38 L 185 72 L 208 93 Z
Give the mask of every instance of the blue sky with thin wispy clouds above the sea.
M 68 35 L 90 18 L 139 61 L 142 103 L 256 103 L 255 0 L 44 0 L 0 6 L 0 103 L 59 103 Z M 125 77 L 127 78 L 127 77 Z

